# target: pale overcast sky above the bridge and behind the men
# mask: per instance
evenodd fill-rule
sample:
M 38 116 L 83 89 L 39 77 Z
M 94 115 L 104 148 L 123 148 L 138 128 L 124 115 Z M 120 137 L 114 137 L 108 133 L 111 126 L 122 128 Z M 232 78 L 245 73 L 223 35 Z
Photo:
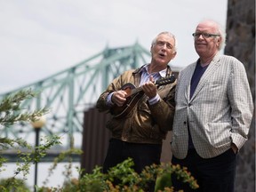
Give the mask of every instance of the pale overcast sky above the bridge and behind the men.
M 225 28 L 227 6 L 228 0 L 0 0 L 0 93 L 76 66 L 107 46 L 138 42 L 149 51 L 162 31 L 178 40 L 172 66 L 186 67 L 197 59 L 197 23 L 212 19 Z M 50 186 L 61 184 L 61 172 Z M 11 168 L 4 174 L 12 175 Z M 39 186 L 46 174 L 40 174 Z

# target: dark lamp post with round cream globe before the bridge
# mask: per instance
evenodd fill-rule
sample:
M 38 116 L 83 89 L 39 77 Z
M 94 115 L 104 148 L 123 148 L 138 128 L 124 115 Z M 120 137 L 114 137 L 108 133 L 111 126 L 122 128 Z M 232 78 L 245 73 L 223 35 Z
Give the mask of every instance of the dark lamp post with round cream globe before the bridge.
M 39 146 L 39 132 L 40 129 L 44 126 L 44 124 L 46 123 L 46 119 L 44 116 L 39 116 L 37 121 L 31 122 L 35 132 L 36 132 L 36 148 Z M 34 181 L 34 185 L 35 185 L 35 191 L 36 191 L 36 185 L 37 185 L 37 162 L 35 162 L 35 181 Z

